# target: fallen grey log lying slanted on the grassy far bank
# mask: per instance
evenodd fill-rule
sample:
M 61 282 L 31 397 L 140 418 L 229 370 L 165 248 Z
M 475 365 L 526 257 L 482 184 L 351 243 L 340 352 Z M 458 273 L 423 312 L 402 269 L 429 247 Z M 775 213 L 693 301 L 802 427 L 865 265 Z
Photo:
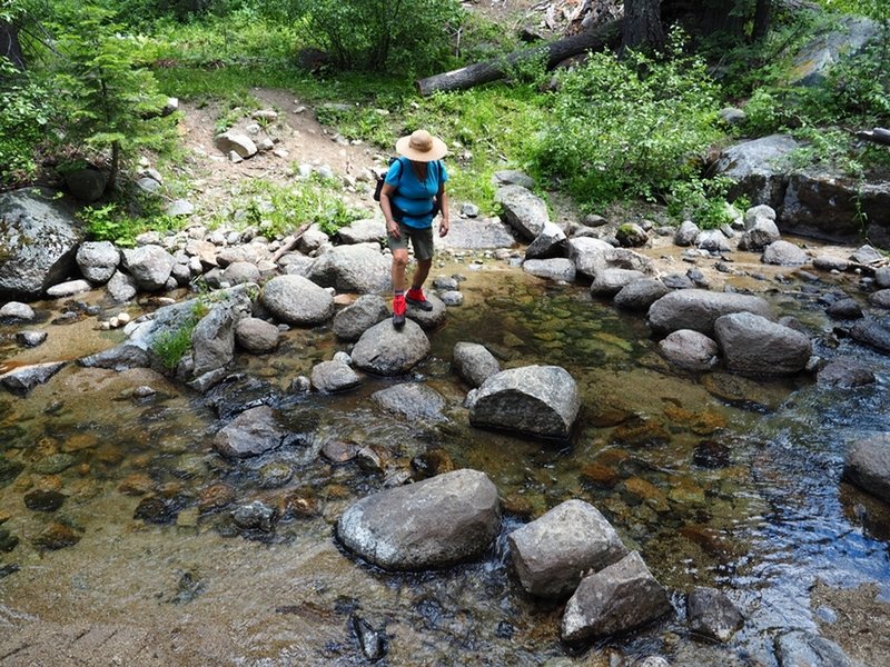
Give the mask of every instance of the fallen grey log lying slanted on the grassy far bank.
M 566 58 L 605 47 L 617 37 L 620 26 L 621 21 L 612 21 L 596 30 L 515 51 L 502 58 L 468 64 L 449 72 L 433 74 L 416 81 L 415 87 L 417 92 L 424 97 L 437 91 L 466 90 L 481 83 L 503 79 L 511 68 L 523 62 L 534 61 L 542 56 L 546 58 L 547 69 L 552 69 Z

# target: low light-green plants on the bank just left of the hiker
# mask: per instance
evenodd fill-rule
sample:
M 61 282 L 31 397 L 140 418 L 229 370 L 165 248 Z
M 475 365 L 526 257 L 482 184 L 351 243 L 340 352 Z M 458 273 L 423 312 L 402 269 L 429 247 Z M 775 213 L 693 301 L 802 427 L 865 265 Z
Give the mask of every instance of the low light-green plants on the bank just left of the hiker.
M 243 225 L 255 225 L 264 233 L 284 237 L 301 225 L 317 223 L 333 236 L 364 215 L 348 207 L 339 196 L 335 181 L 313 176 L 293 186 L 278 186 L 267 181 L 246 183 L 234 195 L 243 212 L 237 218 Z M 229 213 L 221 213 L 215 223 L 230 223 Z

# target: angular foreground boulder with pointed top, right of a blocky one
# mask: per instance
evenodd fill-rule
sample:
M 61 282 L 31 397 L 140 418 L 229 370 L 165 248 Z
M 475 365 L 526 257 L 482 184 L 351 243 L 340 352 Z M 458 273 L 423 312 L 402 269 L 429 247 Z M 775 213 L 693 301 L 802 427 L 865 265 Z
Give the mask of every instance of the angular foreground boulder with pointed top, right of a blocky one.
M 640 554 L 585 577 L 565 607 L 562 637 L 584 641 L 640 627 L 672 609 Z

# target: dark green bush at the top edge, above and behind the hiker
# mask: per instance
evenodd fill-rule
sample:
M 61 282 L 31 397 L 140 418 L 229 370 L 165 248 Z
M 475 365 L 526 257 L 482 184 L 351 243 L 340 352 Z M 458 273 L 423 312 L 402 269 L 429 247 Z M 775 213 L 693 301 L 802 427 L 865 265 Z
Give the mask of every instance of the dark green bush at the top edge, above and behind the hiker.
M 286 0 L 276 9 L 338 69 L 372 71 L 441 67 L 462 14 L 455 0 Z

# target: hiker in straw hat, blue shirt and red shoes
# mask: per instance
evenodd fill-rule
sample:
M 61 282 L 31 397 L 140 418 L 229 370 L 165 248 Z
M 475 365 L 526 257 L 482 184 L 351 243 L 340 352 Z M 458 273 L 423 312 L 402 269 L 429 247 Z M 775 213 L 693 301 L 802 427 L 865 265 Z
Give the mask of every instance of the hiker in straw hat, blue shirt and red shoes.
M 426 130 L 417 130 L 396 142 L 400 156 L 390 166 L 380 190 L 380 210 L 386 219 L 386 235 L 393 251 L 393 325 L 405 325 L 406 303 L 433 310 L 423 285 L 433 266 L 433 219 L 442 212 L 438 236 L 448 233 L 448 172 L 442 158 L 448 152 L 445 142 Z M 408 241 L 414 247 L 417 268 L 411 289 L 405 291 Z

